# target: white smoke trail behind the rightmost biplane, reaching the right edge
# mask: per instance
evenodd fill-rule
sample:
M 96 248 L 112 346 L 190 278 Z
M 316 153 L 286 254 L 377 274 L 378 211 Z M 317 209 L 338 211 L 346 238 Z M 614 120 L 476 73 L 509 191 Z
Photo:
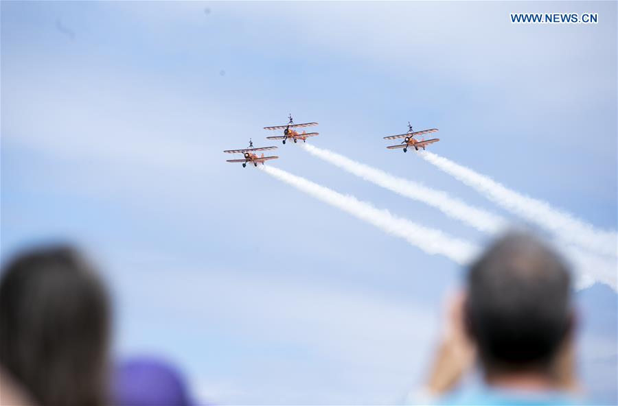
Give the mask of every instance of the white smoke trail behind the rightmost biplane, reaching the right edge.
M 420 156 L 508 211 L 552 232 L 558 239 L 615 258 L 618 248 L 616 232 L 596 230 L 590 224 L 553 208 L 547 202 L 512 191 L 488 176 L 478 174 L 442 156 L 426 151 L 420 152 Z

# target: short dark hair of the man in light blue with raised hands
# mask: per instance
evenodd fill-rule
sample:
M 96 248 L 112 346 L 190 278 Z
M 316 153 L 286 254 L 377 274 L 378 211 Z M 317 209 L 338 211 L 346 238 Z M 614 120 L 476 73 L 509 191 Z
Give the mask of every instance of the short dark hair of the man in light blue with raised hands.
M 486 372 L 547 370 L 571 329 L 571 277 L 538 239 L 511 232 L 470 268 L 466 317 Z

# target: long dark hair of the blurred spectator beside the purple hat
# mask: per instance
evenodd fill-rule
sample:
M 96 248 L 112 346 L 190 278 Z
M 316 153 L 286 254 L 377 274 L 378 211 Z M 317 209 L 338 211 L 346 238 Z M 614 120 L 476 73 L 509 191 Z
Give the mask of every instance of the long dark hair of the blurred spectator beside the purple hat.
M 0 363 L 45 406 L 106 404 L 106 290 L 73 248 L 16 256 L 0 281 Z

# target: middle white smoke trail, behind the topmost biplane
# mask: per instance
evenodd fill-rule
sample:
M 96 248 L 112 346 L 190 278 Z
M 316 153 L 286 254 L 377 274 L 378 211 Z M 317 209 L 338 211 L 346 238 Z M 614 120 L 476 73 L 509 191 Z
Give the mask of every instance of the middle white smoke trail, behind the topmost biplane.
M 304 150 L 317 156 L 341 169 L 350 172 L 360 178 L 377 184 L 380 187 L 389 189 L 406 198 L 423 202 L 438 208 L 444 214 L 454 219 L 460 220 L 477 230 L 497 234 L 507 228 L 507 221 L 499 215 L 495 215 L 481 208 L 476 208 L 466 204 L 457 198 L 451 197 L 444 191 L 426 187 L 418 182 L 413 182 L 404 178 L 398 178 L 385 171 L 370 167 L 363 163 L 356 162 L 335 152 L 323 150 L 313 145 L 303 144 Z

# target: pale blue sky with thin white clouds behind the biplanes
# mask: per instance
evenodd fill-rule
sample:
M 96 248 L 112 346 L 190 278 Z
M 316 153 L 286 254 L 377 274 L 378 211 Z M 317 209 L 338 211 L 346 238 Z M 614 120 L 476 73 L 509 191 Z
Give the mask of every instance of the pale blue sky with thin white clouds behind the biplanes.
M 510 12 L 598 12 L 512 25 Z M 318 121 L 311 142 L 508 216 L 384 135 L 591 224 L 617 224 L 616 3 L 1 3 L 1 251 L 56 239 L 95 258 L 115 353 L 177 363 L 216 403 L 395 403 L 426 373 L 462 271 L 222 150 Z M 71 35 L 72 34 L 72 35 Z M 282 146 L 282 145 L 279 145 Z M 312 158 L 282 169 L 485 243 Z M 516 221 L 516 219 L 514 219 Z M 579 365 L 617 401 L 617 301 L 578 294 Z

